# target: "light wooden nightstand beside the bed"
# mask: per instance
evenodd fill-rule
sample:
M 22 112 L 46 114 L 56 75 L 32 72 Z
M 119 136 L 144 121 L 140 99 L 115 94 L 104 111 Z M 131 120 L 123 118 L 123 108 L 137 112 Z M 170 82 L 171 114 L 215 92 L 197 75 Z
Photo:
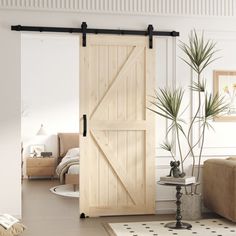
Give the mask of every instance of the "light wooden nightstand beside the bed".
M 57 159 L 55 157 L 28 157 L 26 159 L 26 175 L 32 176 L 50 176 L 55 174 Z

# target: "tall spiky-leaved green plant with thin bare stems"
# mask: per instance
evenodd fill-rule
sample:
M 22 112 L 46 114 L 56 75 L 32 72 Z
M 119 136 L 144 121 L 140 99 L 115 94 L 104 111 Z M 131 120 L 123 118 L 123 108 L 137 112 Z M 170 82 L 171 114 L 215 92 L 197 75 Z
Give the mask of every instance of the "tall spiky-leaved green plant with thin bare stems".
M 206 128 L 211 127 L 209 121 L 214 119 L 216 116 L 219 116 L 221 113 L 227 110 L 227 105 L 224 103 L 223 98 L 219 97 L 218 94 L 212 95 L 206 91 L 206 82 L 202 77 L 202 72 L 211 64 L 215 58 L 215 43 L 210 40 L 205 40 L 204 35 L 200 37 L 197 35 L 196 31 L 193 31 L 193 34 L 189 37 L 188 44 L 181 42 L 180 48 L 186 55 L 187 59 L 182 58 L 182 60 L 191 68 L 197 75 L 197 80 L 193 81 L 190 85 L 190 90 L 192 93 L 197 93 L 198 104 L 196 111 L 191 117 L 187 131 L 183 128 L 183 123 L 186 123 L 181 119 L 181 104 L 184 96 L 184 91 L 182 89 L 160 89 L 159 92 L 155 92 L 154 101 L 151 103 L 155 108 L 149 110 L 155 112 L 156 114 L 168 119 L 171 121 L 171 125 L 168 128 L 170 130 L 175 130 L 176 140 L 178 144 L 179 158 L 181 162 L 182 171 L 184 171 L 184 161 L 192 156 L 192 171 L 191 175 L 194 175 L 194 169 L 197 166 L 197 179 L 196 182 L 199 182 L 200 177 L 200 163 L 202 157 L 202 151 L 205 141 L 205 131 Z M 202 99 L 201 94 L 205 94 L 204 100 Z M 203 101 L 202 101 L 203 100 Z M 204 106 L 203 114 L 200 114 L 201 107 Z M 191 140 L 191 134 L 193 132 L 194 123 L 201 122 L 201 135 L 198 140 L 194 143 Z M 181 137 L 187 141 L 188 151 L 186 154 L 183 154 L 181 148 Z M 199 145 L 199 152 L 195 153 L 195 147 Z M 162 145 L 162 148 L 169 151 L 173 155 L 173 145 L 170 145 L 168 142 L 165 142 Z M 196 157 L 198 156 L 198 163 L 196 164 Z M 176 157 L 174 158 L 176 159 Z M 191 188 L 191 194 L 196 194 L 197 185 L 195 188 Z

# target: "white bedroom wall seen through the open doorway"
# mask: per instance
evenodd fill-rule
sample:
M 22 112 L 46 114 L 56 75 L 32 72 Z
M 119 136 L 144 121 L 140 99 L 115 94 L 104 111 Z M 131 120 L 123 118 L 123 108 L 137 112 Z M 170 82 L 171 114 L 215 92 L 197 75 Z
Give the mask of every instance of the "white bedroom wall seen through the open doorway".
M 56 134 L 79 132 L 78 35 L 22 34 L 21 106 L 24 159 L 34 144 L 57 156 Z M 41 124 L 47 135 L 36 136 Z

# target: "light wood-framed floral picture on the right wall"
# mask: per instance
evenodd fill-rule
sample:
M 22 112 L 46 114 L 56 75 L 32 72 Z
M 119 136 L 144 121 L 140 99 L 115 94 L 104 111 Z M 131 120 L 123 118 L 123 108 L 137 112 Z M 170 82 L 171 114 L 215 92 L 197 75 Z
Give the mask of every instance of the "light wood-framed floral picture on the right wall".
M 224 97 L 228 109 L 214 121 L 236 121 L 236 71 L 216 70 L 213 72 L 214 94 Z

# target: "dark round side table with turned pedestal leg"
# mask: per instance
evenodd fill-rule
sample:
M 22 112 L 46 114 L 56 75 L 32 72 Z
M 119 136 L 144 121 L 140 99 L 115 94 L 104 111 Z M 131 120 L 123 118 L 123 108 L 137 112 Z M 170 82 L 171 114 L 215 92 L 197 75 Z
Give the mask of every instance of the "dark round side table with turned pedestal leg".
M 182 186 L 188 186 L 192 184 L 169 184 L 165 182 L 158 181 L 157 182 L 160 185 L 165 185 L 165 186 L 175 186 L 176 187 L 176 221 L 175 222 L 170 222 L 165 224 L 165 227 L 168 227 L 170 229 L 191 229 L 192 225 L 186 222 L 182 222 L 182 215 L 181 215 L 181 187 Z

